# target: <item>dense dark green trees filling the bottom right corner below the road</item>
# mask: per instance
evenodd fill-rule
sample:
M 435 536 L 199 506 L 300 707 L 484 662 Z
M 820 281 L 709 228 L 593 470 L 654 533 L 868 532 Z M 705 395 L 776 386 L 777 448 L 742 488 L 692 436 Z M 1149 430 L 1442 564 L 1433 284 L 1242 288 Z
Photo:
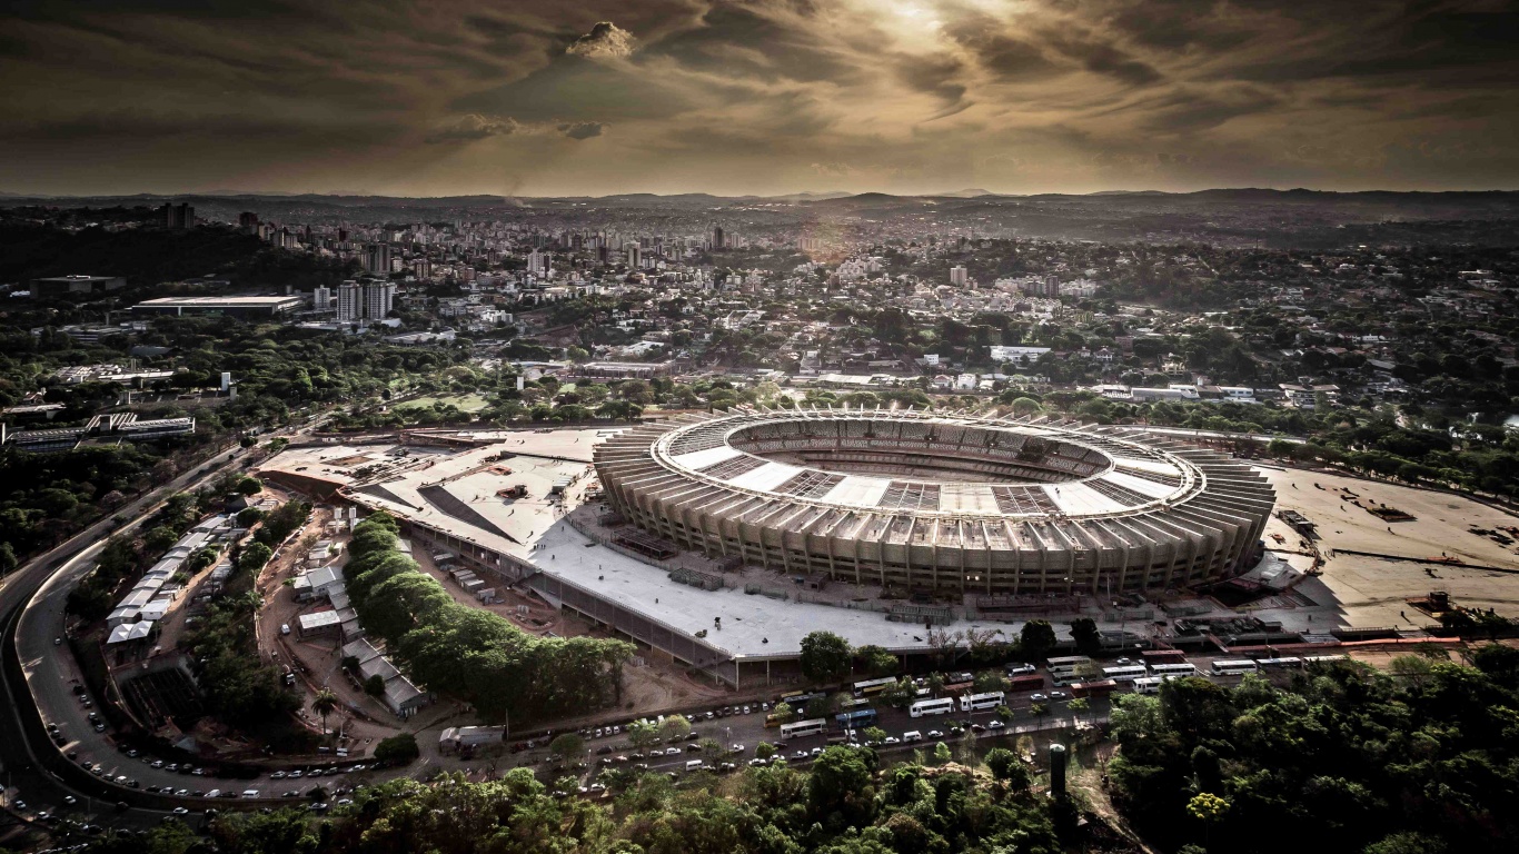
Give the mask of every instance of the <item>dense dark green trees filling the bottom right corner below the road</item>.
M 1337 663 L 1274 688 L 1246 676 L 1121 694 L 1109 766 L 1127 819 L 1164 848 L 1484 854 L 1519 839 L 1519 650 L 1461 666 Z

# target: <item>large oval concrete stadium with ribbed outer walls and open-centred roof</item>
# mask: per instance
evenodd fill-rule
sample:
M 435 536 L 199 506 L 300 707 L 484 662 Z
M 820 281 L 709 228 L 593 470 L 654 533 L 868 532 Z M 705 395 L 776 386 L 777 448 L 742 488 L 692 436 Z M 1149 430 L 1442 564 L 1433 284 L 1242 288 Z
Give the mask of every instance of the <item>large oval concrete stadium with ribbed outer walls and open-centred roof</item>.
M 595 450 L 652 538 L 904 591 L 1120 594 L 1230 577 L 1274 492 L 1224 454 L 1135 427 L 917 410 L 741 410 Z

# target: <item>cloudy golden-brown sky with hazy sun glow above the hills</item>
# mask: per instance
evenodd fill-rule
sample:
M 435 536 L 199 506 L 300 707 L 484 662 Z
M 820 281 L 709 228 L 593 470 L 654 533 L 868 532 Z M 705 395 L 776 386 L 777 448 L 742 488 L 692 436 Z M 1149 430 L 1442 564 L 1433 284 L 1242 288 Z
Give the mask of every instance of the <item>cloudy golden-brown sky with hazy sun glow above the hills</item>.
M 9 0 L 0 191 L 1519 188 L 1511 0 Z

